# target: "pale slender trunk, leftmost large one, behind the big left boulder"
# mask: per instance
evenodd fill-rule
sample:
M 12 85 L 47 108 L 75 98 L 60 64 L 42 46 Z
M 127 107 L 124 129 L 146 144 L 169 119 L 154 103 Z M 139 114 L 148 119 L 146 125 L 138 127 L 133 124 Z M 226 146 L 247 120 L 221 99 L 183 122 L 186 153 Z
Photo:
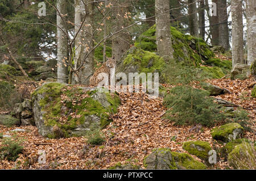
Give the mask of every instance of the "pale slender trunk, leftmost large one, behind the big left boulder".
M 68 41 L 63 15 L 67 13 L 65 0 L 57 0 L 57 81 L 68 82 Z M 62 17 L 61 17 L 62 16 Z

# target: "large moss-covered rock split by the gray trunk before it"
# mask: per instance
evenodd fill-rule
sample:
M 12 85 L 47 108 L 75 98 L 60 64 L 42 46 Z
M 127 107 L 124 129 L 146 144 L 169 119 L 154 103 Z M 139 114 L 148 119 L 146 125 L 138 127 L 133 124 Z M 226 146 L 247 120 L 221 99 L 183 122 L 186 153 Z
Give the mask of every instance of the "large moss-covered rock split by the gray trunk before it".
M 171 28 L 172 47 L 174 48 L 175 60 L 185 61 L 193 65 L 199 66 L 203 64 L 201 61 L 214 57 L 214 53 L 203 39 L 184 35 L 174 27 Z M 147 31 L 143 32 L 135 42 L 135 47 L 141 48 L 149 52 L 157 52 L 155 25 Z

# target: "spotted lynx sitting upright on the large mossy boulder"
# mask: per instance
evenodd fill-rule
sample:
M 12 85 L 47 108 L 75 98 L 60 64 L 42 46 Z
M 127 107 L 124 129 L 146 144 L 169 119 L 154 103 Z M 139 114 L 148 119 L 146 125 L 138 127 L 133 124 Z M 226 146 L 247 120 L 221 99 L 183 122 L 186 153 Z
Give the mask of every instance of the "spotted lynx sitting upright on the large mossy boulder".
M 107 61 L 102 64 L 100 68 L 98 68 L 92 77 L 90 77 L 90 85 L 97 86 L 99 82 L 101 82 L 104 78 L 98 79 L 98 74 L 100 73 L 106 73 L 109 76 L 109 82 L 110 82 L 110 69 L 115 67 L 115 60 L 114 58 L 107 58 Z

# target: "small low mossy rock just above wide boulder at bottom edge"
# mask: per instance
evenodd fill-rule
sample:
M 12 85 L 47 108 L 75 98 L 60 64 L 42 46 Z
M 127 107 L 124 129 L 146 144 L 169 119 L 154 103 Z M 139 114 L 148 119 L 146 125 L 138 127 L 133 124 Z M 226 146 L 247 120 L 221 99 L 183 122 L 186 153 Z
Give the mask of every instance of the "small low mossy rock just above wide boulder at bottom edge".
M 207 160 L 209 155 L 208 152 L 212 150 L 210 144 L 205 141 L 186 141 L 183 143 L 184 150 L 192 155 L 196 155 L 200 159 Z

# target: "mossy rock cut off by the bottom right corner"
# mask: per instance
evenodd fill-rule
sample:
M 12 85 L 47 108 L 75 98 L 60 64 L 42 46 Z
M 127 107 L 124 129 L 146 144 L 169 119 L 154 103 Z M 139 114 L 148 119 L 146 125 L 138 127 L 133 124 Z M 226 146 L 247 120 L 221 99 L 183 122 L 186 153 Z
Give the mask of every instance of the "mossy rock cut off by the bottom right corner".
M 256 146 L 247 142 L 237 145 L 228 155 L 234 169 L 256 169 Z

